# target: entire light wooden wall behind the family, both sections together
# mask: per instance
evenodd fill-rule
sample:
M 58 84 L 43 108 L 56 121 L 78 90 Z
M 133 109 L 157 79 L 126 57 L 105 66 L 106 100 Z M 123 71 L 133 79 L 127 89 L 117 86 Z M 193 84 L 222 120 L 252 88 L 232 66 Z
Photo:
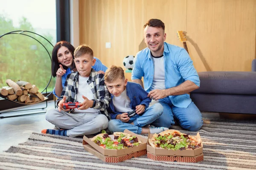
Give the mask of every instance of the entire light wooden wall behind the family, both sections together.
M 197 71 L 250 71 L 256 0 L 80 0 L 80 43 L 90 45 L 108 67 L 123 67 L 123 58 L 139 51 L 143 25 L 151 18 L 165 23 L 168 43 L 183 46 L 176 32 L 187 32 Z M 125 75 L 130 80 L 131 74 Z

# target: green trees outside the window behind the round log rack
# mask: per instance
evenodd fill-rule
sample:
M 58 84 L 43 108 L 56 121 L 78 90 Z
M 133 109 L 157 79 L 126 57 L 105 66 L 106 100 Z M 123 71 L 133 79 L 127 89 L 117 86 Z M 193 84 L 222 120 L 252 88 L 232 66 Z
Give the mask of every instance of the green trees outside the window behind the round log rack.
M 10 31 L 26 30 L 35 32 L 31 23 L 25 17 L 20 20 L 20 26 L 15 28 L 12 20 L 0 15 L 0 35 Z M 6 79 L 26 81 L 36 85 L 41 92 L 47 86 L 51 77 L 51 56 L 54 38 L 50 35 L 42 37 L 23 32 L 41 42 L 46 49 L 31 37 L 20 34 L 9 34 L 0 38 L 0 87 L 6 86 Z M 52 78 L 47 92 L 52 91 L 55 79 Z M 45 91 L 44 91 L 45 92 Z

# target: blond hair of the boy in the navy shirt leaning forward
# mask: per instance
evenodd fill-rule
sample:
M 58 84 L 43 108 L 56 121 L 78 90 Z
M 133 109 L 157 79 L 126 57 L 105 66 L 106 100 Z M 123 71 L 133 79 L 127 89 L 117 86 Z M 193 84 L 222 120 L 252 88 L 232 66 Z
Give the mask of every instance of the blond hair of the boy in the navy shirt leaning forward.
M 111 83 L 116 79 L 125 79 L 125 73 L 122 67 L 111 65 L 105 72 L 105 82 Z

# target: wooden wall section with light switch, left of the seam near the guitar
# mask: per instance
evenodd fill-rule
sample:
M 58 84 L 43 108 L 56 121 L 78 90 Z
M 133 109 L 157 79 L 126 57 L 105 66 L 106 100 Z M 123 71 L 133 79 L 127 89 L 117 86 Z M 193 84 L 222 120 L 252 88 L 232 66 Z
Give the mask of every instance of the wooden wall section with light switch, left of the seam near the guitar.
M 167 42 L 182 45 L 176 31 L 186 29 L 186 0 L 80 0 L 80 43 L 90 45 L 106 66 L 124 68 L 123 58 L 139 51 L 143 26 L 151 18 L 166 24 Z M 105 48 L 105 42 L 111 42 L 111 48 Z M 125 76 L 131 80 L 131 73 Z

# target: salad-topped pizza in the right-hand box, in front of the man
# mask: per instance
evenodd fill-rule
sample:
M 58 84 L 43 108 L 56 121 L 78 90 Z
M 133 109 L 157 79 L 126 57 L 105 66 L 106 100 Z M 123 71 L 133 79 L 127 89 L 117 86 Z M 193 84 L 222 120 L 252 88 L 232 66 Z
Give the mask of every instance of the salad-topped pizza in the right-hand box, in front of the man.
M 148 143 L 152 147 L 172 150 L 193 150 L 201 147 L 201 139 L 178 130 L 165 130 L 159 134 L 155 133 Z

